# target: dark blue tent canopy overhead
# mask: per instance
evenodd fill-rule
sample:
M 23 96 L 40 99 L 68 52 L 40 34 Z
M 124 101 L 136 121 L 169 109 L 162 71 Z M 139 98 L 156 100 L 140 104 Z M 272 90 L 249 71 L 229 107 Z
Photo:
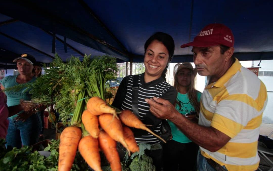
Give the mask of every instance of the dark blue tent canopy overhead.
M 192 41 L 207 24 L 222 23 L 235 36 L 239 60 L 273 59 L 273 1 L 34 1 L 4 0 L 0 6 L 0 68 L 28 53 L 48 63 L 86 54 L 143 62 L 144 43 L 157 31 L 173 36 L 172 62 L 192 62 Z M 1 67 L 2 66 L 2 67 Z

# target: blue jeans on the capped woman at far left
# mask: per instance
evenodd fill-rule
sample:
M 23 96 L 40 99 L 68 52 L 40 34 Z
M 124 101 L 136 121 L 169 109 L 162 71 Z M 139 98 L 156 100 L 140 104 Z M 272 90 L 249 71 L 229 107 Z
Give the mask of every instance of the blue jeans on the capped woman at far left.
M 24 122 L 8 118 L 8 134 L 6 147 L 21 148 L 22 145 L 31 146 L 38 142 L 41 132 L 41 117 L 33 114 Z

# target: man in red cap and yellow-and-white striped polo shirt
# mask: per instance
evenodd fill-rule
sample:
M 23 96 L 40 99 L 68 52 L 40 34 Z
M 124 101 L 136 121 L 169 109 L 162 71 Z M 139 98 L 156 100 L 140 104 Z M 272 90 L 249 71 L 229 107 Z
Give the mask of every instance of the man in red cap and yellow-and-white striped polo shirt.
M 234 37 L 223 24 L 209 24 L 181 45 L 192 46 L 198 74 L 208 77 L 201 95 L 199 124 L 186 119 L 168 101 L 146 99 L 150 111 L 172 121 L 200 146 L 198 170 L 256 170 L 257 140 L 267 103 L 263 82 L 233 57 Z M 156 103 L 157 102 L 157 103 Z

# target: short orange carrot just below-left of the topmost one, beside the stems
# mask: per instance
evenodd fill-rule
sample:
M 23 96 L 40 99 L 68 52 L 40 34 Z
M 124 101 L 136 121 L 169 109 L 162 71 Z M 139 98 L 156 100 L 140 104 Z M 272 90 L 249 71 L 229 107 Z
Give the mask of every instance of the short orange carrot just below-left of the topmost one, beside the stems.
M 88 110 L 85 110 L 82 113 L 82 123 L 92 137 L 98 138 L 100 129 L 98 117 L 96 115 L 92 115 Z

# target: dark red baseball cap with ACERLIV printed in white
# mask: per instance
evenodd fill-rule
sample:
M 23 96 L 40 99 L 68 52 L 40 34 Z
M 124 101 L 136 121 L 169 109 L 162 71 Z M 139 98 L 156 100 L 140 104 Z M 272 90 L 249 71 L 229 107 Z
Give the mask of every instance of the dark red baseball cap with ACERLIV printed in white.
M 224 24 L 207 25 L 194 37 L 193 42 L 183 44 L 181 45 L 181 48 L 189 46 L 208 47 L 215 45 L 225 45 L 227 47 L 234 46 L 232 31 Z

